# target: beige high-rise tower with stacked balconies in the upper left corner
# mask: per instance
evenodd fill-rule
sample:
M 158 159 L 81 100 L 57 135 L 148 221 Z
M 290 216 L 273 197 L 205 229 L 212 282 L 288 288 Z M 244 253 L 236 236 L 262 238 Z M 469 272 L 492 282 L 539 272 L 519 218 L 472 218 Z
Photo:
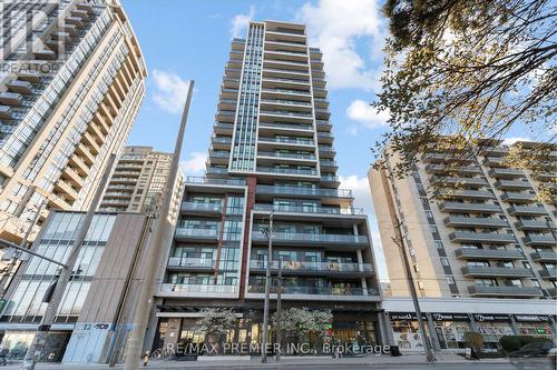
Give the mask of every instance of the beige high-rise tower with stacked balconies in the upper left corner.
M 88 207 L 131 129 L 146 68 L 117 0 L 0 10 L 0 238 L 19 242 L 37 212 L 38 226 L 49 209 Z

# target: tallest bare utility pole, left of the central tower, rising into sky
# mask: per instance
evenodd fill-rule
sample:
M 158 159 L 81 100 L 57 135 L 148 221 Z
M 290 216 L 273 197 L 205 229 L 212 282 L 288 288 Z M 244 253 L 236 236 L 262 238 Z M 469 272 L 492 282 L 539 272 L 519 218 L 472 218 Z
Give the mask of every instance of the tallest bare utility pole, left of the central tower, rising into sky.
M 176 146 L 174 147 L 173 160 L 170 163 L 170 171 L 168 178 L 166 179 L 165 189 L 160 197 L 160 209 L 156 217 L 157 227 L 153 238 L 149 240 L 147 257 L 145 262 L 145 277 L 141 286 L 141 291 L 139 293 L 139 299 L 137 301 L 137 309 L 134 314 L 134 323 L 131 336 L 128 341 L 128 348 L 126 353 L 126 362 L 124 363 L 125 370 L 136 370 L 139 368 L 139 360 L 141 358 L 143 344 L 145 340 L 145 331 L 147 328 L 147 321 L 149 319 L 149 312 L 153 307 L 153 293 L 156 288 L 156 278 L 158 273 L 158 268 L 163 258 L 163 240 L 165 239 L 164 231 L 166 230 L 166 217 L 170 210 L 174 184 L 176 182 L 178 171 L 179 171 L 179 156 L 182 152 L 182 144 L 184 142 L 184 132 L 186 131 L 187 113 L 189 111 L 189 104 L 192 102 L 192 93 L 194 90 L 194 81 L 188 81 L 186 102 L 184 104 L 184 111 L 182 112 L 182 121 L 178 129 L 178 134 L 176 137 Z

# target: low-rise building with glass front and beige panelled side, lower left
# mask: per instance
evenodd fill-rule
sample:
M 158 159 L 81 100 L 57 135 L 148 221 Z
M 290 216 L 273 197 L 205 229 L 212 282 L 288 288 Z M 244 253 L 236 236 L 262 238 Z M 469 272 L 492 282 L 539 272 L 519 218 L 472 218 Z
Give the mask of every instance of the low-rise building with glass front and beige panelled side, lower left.
M 84 218 L 85 212 L 50 212 L 33 250 L 63 263 Z M 102 363 L 113 354 L 120 359 L 137 306 L 148 226 L 143 213 L 94 216 L 41 361 Z M 30 257 L 10 286 L 0 318 L 0 350 L 10 360 L 23 359 L 59 269 Z

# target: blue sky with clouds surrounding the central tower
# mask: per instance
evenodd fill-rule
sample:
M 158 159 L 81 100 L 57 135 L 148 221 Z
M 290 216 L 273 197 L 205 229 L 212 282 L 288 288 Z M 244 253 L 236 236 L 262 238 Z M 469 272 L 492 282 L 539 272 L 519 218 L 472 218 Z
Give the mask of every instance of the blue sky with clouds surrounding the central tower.
M 252 20 L 303 22 L 321 48 L 329 89 L 341 187 L 370 217 L 379 276 L 387 279 L 367 172 L 370 147 L 387 130 L 387 116 L 369 102 L 379 91 L 385 21 L 375 0 L 121 0 L 141 47 L 147 94 L 128 144 L 173 151 L 187 80 L 195 81 L 182 169 L 203 176 L 219 86 L 231 41 Z

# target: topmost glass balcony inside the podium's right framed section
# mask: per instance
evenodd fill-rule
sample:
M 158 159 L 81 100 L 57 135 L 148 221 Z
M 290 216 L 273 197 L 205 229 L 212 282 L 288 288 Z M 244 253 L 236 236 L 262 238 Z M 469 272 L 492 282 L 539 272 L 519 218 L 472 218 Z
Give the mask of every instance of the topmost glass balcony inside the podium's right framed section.
M 266 241 L 265 234 L 253 230 L 252 239 Z M 338 244 L 369 244 L 365 236 L 326 234 L 326 233 L 301 233 L 301 232 L 273 232 L 273 242 L 294 243 L 338 243 Z

